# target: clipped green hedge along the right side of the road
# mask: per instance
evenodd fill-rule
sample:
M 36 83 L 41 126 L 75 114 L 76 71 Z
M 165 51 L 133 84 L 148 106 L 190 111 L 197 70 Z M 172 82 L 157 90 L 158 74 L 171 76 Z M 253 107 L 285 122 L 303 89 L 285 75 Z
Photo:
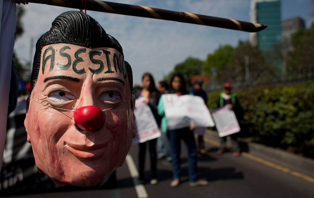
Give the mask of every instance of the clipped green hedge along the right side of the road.
M 314 81 L 235 92 L 244 110 L 242 136 L 314 158 Z M 208 94 L 210 109 L 219 93 Z

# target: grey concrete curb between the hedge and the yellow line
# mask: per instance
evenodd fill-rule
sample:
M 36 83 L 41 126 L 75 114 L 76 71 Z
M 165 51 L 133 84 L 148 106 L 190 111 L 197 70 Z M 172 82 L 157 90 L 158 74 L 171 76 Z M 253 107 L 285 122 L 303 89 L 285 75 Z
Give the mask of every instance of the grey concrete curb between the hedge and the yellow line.
M 205 136 L 211 140 L 220 142 L 220 138 L 216 131 L 207 130 Z M 295 155 L 287 151 L 254 142 L 239 142 L 241 147 L 245 145 L 245 150 L 247 150 L 246 152 L 314 177 L 314 160 L 311 158 Z M 227 143 L 227 146 L 228 145 L 229 144 Z

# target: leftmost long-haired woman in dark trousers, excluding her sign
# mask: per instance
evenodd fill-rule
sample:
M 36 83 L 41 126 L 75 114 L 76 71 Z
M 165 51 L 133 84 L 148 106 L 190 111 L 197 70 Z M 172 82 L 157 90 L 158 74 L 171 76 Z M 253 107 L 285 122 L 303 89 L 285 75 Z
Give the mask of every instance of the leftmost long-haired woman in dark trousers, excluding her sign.
M 160 94 L 156 89 L 154 78 L 150 73 L 143 74 L 143 87 L 135 93 L 136 98 L 143 98 L 144 102 L 150 107 L 157 124 L 160 126 L 160 117 L 157 113 L 157 105 Z M 151 165 L 150 184 L 157 184 L 157 154 L 156 154 L 156 138 L 149 140 L 149 154 Z M 139 143 L 139 180 L 144 181 L 144 164 L 145 164 L 146 142 Z

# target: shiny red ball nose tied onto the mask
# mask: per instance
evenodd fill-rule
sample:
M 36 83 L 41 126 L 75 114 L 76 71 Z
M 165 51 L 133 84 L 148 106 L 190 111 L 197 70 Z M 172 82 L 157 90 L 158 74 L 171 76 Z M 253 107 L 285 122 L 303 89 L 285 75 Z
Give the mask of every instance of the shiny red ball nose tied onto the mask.
M 104 113 L 96 106 L 80 107 L 74 112 L 74 122 L 85 131 L 94 131 L 104 125 Z

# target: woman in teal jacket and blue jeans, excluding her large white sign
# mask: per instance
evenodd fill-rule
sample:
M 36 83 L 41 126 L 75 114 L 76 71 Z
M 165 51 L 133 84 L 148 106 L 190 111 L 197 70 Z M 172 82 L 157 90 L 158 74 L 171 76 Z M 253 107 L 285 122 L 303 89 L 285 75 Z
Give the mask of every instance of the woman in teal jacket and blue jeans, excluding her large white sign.
M 170 93 L 176 94 L 178 96 L 187 94 L 185 81 L 182 74 L 174 74 L 171 78 L 170 83 Z M 207 185 L 208 182 L 205 180 L 198 180 L 197 175 L 197 149 L 193 136 L 193 132 L 189 127 L 171 129 L 168 130 L 167 118 L 165 114 L 165 107 L 162 98 L 158 104 L 158 114 L 163 116 L 161 120 L 161 129 L 164 133 L 168 133 L 171 144 L 171 156 L 172 156 L 172 174 L 173 180 L 170 183 L 171 187 L 177 187 L 180 184 L 181 168 L 180 168 L 180 151 L 181 151 L 181 139 L 183 139 L 188 153 L 188 163 L 189 163 L 189 177 L 190 186 L 200 186 Z

